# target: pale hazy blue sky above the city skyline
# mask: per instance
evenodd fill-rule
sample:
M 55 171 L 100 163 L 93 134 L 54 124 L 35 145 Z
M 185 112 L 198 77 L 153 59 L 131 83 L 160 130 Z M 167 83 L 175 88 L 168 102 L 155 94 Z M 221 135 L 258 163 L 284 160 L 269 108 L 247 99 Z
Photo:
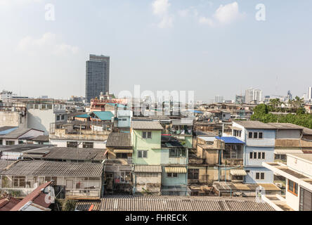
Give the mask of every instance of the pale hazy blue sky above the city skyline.
M 0 0 L 0 90 L 84 96 L 95 53 L 110 56 L 115 94 L 141 84 L 204 101 L 251 86 L 302 96 L 312 86 L 311 9 L 311 0 Z

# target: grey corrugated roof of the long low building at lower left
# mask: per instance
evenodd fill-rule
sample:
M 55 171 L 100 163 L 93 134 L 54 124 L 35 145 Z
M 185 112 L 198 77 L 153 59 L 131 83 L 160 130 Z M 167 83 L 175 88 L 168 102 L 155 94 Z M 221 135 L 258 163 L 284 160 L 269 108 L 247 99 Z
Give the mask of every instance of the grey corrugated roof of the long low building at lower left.
M 103 164 L 100 163 L 22 160 L 0 174 L 20 176 L 101 176 L 102 173 Z

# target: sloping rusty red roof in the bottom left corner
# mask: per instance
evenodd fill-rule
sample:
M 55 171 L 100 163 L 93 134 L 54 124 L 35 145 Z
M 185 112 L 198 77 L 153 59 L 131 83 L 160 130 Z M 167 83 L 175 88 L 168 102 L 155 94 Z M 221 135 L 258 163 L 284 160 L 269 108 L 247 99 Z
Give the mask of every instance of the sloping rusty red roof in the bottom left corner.
M 46 203 L 45 198 L 46 194 L 43 193 L 41 190 L 46 188 L 47 186 L 50 186 L 53 181 L 49 181 L 46 184 L 41 184 L 38 188 L 34 189 L 32 193 L 27 195 L 25 198 L 23 198 L 20 203 L 15 205 L 10 211 L 18 211 L 20 208 L 22 208 L 26 203 L 32 201 L 32 203 L 40 205 L 42 207 L 47 208 L 51 203 Z

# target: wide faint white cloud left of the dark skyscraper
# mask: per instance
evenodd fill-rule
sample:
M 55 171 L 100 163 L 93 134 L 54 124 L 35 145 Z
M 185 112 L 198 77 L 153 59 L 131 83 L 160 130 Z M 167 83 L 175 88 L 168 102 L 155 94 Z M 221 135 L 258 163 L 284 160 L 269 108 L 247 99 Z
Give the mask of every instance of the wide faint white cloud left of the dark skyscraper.
M 48 54 L 48 55 L 64 55 L 75 54 L 79 51 L 77 46 L 62 43 L 58 40 L 56 34 L 45 33 L 39 39 L 27 36 L 21 39 L 18 43 L 17 50 L 30 55 Z

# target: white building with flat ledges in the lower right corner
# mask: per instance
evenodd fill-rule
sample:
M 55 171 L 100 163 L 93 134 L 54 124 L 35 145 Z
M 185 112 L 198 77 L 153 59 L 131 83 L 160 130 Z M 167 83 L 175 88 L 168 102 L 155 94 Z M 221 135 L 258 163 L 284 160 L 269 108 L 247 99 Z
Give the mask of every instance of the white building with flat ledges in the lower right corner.
M 262 195 L 262 199 L 279 211 L 312 211 L 312 154 L 287 154 L 287 165 L 263 162 L 264 167 L 286 179 L 286 193 Z

